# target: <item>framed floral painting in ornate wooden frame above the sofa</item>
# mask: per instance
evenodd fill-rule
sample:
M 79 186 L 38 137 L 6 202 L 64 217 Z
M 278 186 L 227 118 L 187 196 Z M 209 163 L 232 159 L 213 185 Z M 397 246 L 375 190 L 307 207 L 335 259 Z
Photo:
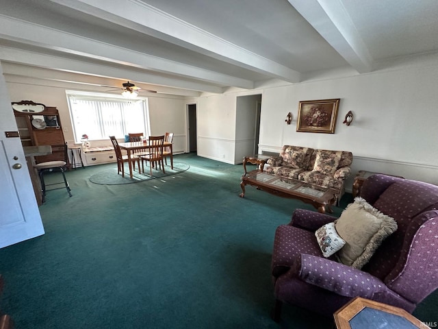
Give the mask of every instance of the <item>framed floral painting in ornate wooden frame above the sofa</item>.
M 334 134 L 339 100 L 300 101 L 296 131 Z

